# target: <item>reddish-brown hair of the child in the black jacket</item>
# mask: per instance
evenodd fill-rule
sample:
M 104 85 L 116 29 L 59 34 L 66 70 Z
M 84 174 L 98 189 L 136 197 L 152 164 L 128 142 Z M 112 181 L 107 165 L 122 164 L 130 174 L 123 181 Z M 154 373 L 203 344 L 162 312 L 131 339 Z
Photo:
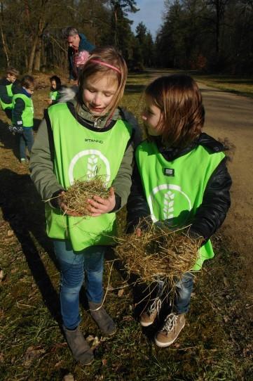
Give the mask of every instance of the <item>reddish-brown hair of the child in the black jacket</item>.
M 165 146 L 184 148 L 200 135 L 205 109 L 193 78 L 182 74 L 159 77 L 145 93 L 161 110 L 159 124 Z

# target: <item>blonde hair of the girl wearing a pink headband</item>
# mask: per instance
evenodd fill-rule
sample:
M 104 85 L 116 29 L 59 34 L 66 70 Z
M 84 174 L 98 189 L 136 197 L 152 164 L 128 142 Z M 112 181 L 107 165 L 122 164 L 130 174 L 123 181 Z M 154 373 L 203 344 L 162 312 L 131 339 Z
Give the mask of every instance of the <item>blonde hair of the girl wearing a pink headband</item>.
M 96 60 L 96 62 L 93 62 L 93 60 Z M 97 61 L 102 61 L 104 65 L 102 63 L 98 63 Z M 115 67 L 115 70 L 110 66 Z M 128 76 L 128 67 L 125 63 L 125 60 L 123 56 L 121 56 L 121 53 L 116 51 L 113 46 L 105 46 L 103 48 L 94 49 L 85 65 L 83 65 L 83 68 L 78 77 L 78 103 L 83 103 L 83 89 L 86 79 L 98 73 L 107 76 L 114 75 L 118 81 L 118 89 L 114 94 L 111 103 L 105 110 L 105 113 L 110 112 L 112 115 L 118 107 L 118 103 L 121 101 L 121 98 L 123 97 L 125 83 Z

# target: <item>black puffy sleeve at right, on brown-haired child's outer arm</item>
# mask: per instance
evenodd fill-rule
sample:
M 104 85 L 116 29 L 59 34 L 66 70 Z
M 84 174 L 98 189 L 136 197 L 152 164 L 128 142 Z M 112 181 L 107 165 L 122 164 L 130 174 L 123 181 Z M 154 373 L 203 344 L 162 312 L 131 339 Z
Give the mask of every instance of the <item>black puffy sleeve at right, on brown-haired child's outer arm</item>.
M 223 223 L 231 205 L 231 176 L 226 168 L 226 158 L 214 170 L 207 183 L 203 202 L 196 212 L 190 233 L 202 236 L 205 243 Z

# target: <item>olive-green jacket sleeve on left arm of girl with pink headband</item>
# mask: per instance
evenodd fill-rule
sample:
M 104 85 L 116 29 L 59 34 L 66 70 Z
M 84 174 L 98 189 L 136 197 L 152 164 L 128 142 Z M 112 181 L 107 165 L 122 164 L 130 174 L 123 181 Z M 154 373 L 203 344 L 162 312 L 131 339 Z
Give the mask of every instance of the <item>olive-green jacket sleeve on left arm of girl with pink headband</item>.
M 42 200 L 48 200 L 62 191 L 62 186 L 58 183 L 53 172 L 52 152 L 48 136 L 46 120 L 43 119 L 32 147 L 32 155 L 29 164 L 31 178 L 41 195 Z

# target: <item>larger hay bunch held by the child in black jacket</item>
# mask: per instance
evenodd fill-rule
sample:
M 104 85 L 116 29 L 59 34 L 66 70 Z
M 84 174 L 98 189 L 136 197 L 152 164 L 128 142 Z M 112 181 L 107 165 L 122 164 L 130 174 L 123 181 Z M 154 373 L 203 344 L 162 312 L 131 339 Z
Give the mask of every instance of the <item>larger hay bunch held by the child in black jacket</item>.
M 153 283 L 159 278 L 173 287 L 196 264 L 202 241 L 189 236 L 189 227 L 172 231 L 165 225 L 149 224 L 140 237 L 133 233 L 118 238 L 116 252 L 128 273 L 138 276 L 139 283 Z

